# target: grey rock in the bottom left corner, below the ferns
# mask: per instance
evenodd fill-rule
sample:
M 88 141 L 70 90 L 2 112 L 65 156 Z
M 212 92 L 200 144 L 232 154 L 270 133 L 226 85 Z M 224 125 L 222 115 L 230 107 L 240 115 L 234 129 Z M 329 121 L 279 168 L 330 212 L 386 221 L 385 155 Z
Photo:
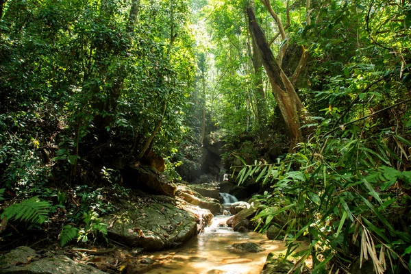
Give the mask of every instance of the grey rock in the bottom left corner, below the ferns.
M 66 256 L 40 258 L 33 260 L 37 254 L 29 247 L 18 247 L 0 258 L 0 273 L 28 274 L 103 274 L 105 272 L 79 264 Z M 37 259 L 37 258 L 36 258 Z

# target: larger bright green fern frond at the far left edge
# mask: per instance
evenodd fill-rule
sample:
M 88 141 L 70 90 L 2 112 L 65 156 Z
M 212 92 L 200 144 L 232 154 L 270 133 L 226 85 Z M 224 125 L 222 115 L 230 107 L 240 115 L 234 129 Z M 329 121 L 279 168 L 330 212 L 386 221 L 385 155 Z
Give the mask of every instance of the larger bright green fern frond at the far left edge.
M 5 216 L 7 220 L 14 218 L 16 221 L 41 224 L 47 220 L 50 206 L 51 204 L 48 201 L 40 201 L 38 196 L 32 197 L 5 208 L 0 219 Z

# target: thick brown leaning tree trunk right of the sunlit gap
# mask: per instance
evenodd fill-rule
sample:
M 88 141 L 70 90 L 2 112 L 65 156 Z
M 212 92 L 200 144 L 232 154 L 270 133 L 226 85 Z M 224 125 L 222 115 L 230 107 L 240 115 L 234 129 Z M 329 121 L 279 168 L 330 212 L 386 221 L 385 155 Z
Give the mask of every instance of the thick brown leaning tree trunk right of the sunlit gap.
M 255 42 L 256 50 L 260 52 L 262 64 L 273 89 L 273 95 L 288 129 L 291 142 L 290 147 L 295 147 L 297 142 L 302 140 L 299 114 L 303 110 L 303 104 L 297 92 L 295 92 L 290 79 L 288 79 L 284 71 L 282 71 L 277 64 L 277 60 L 274 58 L 269 43 L 266 41 L 264 32 L 262 32 L 260 25 L 258 25 L 256 21 L 256 14 L 253 11 L 253 1 L 249 1 L 246 11 L 249 18 L 251 37 Z

